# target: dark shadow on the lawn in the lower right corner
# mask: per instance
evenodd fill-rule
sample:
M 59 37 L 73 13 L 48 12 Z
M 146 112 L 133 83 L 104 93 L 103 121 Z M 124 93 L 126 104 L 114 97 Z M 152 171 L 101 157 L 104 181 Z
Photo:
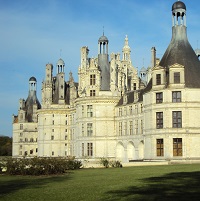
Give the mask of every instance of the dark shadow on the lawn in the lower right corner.
M 107 200 L 188 201 L 200 200 L 200 172 L 170 173 L 141 180 L 141 186 L 107 192 Z M 106 199 L 105 199 L 106 200 Z

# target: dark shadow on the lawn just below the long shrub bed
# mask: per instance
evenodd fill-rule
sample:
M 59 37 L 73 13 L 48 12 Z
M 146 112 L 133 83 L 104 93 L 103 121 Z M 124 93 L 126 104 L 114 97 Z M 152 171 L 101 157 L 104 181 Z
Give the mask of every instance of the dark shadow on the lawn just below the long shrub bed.
M 64 175 L 49 176 L 0 175 L 0 197 L 24 188 L 42 188 L 48 183 L 70 180 L 72 174 L 72 172 L 69 172 Z

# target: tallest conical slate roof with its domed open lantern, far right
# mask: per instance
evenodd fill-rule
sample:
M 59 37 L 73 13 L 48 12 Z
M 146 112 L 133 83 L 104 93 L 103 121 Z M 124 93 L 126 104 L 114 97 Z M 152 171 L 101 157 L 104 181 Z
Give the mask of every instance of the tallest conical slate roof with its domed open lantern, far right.
M 173 80 L 173 73 L 169 71 L 174 64 L 184 66 L 180 77 L 186 87 L 200 87 L 200 62 L 187 38 L 186 6 L 182 1 L 172 6 L 172 39 L 159 64 L 166 71 L 165 85 Z

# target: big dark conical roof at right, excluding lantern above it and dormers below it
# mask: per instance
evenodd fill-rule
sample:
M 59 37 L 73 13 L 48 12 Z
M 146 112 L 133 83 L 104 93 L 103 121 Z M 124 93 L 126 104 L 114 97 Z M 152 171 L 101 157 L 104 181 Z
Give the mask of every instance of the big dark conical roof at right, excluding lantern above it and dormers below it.
M 185 69 L 185 87 L 200 88 L 200 61 L 191 47 L 185 26 L 173 27 L 172 40 L 160 61 L 160 66 L 168 68 L 178 63 Z

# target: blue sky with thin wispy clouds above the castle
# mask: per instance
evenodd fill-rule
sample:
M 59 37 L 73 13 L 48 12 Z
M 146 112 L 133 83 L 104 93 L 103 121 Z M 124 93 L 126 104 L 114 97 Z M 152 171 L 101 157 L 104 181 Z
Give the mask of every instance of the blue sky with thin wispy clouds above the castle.
M 80 48 L 97 57 L 98 39 L 107 36 L 109 54 L 122 52 L 128 35 L 131 59 L 138 71 L 150 66 L 151 48 L 162 58 L 172 33 L 171 8 L 176 0 L 0 0 L 0 135 L 12 136 L 12 115 L 28 97 L 29 78 L 41 83 L 47 63 L 59 58 L 78 82 Z M 199 0 L 184 0 L 187 35 L 200 48 Z M 199 42 L 198 42 L 199 41 Z

